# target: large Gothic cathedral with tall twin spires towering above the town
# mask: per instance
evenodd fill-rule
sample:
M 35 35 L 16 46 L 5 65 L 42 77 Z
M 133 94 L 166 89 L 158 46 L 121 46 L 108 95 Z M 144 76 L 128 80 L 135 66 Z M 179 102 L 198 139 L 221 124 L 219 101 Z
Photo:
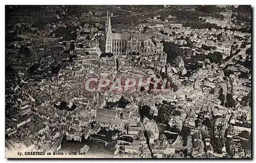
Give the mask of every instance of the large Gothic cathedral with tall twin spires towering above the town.
M 105 23 L 105 52 L 111 52 L 114 56 L 161 56 L 163 44 L 152 39 L 154 35 L 148 33 L 112 33 L 110 16 L 107 14 Z

